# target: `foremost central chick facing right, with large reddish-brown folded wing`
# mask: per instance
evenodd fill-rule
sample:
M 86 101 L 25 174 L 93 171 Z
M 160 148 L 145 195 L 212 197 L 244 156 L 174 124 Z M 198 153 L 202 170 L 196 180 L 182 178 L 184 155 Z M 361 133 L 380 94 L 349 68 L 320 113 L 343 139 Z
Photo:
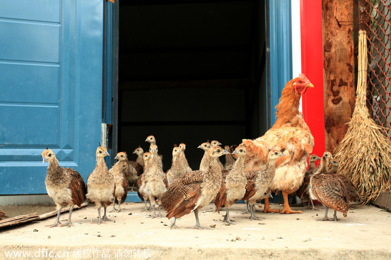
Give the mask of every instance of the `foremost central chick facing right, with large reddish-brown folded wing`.
M 167 211 L 167 218 L 180 218 L 195 212 L 195 228 L 199 225 L 198 209 L 207 205 L 221 187 L 221 168 L 217 158 L 229 153 L 221 147 L 214 146 L 208 150 L 209 168 L 207 171 L 192 171 L 174 180 L 168 191 L 160 198 L 162 207 Z M 172 227 L 176 227 L 175 219 Z

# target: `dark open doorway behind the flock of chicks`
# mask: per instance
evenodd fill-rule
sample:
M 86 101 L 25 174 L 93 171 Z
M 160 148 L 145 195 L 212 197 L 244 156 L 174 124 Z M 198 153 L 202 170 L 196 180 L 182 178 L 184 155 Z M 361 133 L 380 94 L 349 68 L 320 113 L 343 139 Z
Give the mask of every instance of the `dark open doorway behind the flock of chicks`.
M 186 143 L 198 169 L 206 140 L 239 144 L 264 132 L 264 3 L 119 2 L 118 151 L 154 135 L 164 170 Z

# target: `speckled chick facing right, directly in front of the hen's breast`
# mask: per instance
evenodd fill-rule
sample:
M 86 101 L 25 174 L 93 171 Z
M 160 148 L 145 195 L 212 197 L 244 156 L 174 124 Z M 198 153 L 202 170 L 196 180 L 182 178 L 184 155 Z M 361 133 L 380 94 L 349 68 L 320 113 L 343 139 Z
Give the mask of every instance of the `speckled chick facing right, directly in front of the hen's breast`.
M 276 173 L 275 162 L 282 156 L 285 156 L 285 154 L 280 151 L 270 151 L 267 157 L 267 165 L 265 169 L 246 172 L 247 184 L 243 200 L 248 201 L 248 205 L 251 210 L 251 220 L 258 219 L 254 215 L 254 205 L 258 200 L 264 198 L 264 193 L 268 189 L 268 186 L 272 182 Z

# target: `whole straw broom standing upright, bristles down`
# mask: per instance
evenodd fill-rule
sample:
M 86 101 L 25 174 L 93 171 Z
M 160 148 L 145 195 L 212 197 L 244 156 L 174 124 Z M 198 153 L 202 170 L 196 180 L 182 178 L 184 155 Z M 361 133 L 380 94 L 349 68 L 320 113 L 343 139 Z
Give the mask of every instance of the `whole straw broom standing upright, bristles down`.
M 367 55 L 367 33 L 360 30 L 356 103 L 348 132 L 334 150 L 334 157 L 340 161 L 340 174 L 357 187 L 363 204 L 391 189 L 391 142 L 370 118 L 366 106 Z

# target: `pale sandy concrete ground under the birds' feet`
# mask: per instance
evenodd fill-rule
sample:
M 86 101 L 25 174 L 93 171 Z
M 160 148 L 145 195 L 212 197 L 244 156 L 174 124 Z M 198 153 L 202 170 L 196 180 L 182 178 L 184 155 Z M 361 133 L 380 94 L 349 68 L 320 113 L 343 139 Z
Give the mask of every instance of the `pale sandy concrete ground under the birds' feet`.
M 171 221 L 151 219 L 151 213 L 141 211 L 143 203 L 125 203 L 122 212 L 109 213 L 115 222 L 100 225 L 91 223 L 98 214 L 88 205 L 73 212 L 72 227 L 46 227 L 53 217 L 0 230 L 0 259 L 31 259 L 34 254 L 34 259 L 391 259 L 391 212 L 352 206 L 348 218 L 338 213 L 337 222 L 316 221 L 324 215 L 324 207 L 317 207 L 322 211 L 303 207 L 293 208 L 303 211 L 293 215 L 257 211 L 266 219 L 250 221 L 241 214 L 245 205 L 235 204 L 230 217 L 236 225 L 221 221 L 224 211 L 206 212 L 199 214 L 200 223 L 214 228 L 192 229 L 192 213 L 176 221 L 185 229 L 170 230 Z M 329 217 L 332 214 L 329 211 Z M 60 220 L 67 216 L 62 214 Z M 18 252 L 30 253 L 30 258 L 6 257 Z

